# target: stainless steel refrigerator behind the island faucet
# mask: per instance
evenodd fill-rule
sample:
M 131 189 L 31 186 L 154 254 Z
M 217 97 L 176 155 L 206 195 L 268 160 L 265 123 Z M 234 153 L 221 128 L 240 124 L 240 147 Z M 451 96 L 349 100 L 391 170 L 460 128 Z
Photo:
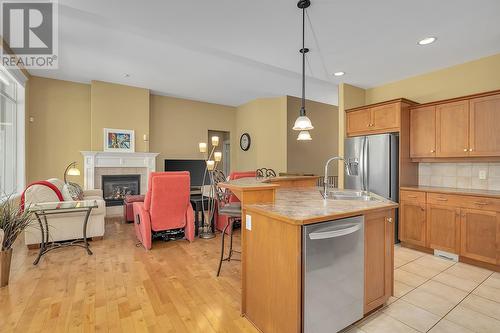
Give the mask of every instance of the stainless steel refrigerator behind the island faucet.
M 347 138 L 345 139 L 344 150 L 344 159 L 349 163 L 352 174 L 348 175 L 344 171 L 344 188 L 367 189 L 370 192 L 398 202 L 398 133 Z M 397 242 L 397 222 L 395 228 Z

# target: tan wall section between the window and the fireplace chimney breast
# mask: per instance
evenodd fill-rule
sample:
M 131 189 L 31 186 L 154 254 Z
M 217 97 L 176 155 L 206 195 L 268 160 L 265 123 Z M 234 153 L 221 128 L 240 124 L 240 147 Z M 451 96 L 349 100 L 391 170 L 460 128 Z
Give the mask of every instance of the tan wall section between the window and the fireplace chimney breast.
M 62 178 L 72 161 L 81 176 L 70 180 L 83 184 L 81 150 L 90 149 L 90 85 L 32 76 L 27 91 L 27 181 Z

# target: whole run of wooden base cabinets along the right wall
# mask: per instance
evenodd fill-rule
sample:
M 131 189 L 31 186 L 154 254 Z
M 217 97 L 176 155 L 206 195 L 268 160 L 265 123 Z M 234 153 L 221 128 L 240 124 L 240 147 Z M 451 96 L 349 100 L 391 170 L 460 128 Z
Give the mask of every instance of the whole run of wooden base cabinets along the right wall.
M 458 254 L 500 271 L 499 198 L 408 190 L 400 197 L 403 244 Z

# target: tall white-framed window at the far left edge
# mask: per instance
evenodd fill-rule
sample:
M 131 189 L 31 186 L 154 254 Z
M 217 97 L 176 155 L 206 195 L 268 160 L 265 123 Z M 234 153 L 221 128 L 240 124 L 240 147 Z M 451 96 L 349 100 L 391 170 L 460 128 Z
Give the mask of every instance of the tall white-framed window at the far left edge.
M 0 197 L 19 191 L 16 81 L 0 67 Z

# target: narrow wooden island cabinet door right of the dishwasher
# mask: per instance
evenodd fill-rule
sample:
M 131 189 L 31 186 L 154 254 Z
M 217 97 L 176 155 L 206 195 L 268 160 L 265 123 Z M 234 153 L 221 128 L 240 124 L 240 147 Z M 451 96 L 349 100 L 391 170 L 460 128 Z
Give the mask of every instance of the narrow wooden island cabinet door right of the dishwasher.
M 365 215 L 365 313 L 393 293 L 394 210 Z

